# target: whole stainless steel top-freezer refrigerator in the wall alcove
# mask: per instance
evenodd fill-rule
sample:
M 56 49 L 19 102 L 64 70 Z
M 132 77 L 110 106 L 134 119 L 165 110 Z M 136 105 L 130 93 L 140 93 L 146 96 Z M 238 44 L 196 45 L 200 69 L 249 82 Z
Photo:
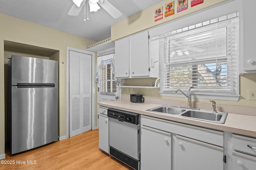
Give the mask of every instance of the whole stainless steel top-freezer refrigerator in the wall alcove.
M 11 154 L 58 140 L 58 62 L 12 55 L 7 137 Z

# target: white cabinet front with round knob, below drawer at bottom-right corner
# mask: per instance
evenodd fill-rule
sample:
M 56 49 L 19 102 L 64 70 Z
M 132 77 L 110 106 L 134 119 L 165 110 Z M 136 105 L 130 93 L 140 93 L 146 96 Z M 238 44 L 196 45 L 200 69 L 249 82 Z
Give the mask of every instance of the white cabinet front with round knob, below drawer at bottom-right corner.
M 239 152 L 233 152 L 232 170 L 255 170 L 256 157 Z

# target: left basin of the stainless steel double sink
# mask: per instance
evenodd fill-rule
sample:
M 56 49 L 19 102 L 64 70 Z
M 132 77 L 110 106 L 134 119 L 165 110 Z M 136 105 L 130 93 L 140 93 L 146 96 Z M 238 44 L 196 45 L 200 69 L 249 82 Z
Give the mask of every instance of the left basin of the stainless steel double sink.
M 175 106 L 159 106 L 159 107 L 154 107 L 152 109 L 148 109 L 147 111 L 179 115 L 184 111 L 186 111 L 186 109 L 182 109 L 180 107 L 175 107 Z

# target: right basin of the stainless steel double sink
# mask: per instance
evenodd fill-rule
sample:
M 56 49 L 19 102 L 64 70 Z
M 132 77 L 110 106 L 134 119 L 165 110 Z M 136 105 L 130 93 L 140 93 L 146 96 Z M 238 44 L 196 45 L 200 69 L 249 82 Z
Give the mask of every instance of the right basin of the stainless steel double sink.
M 213 111 L 188 110 L 181 115 L 184 117 L 192 118 L 192 119 L 211 121 L 215 123 L 224 123 L 228 113 L 224 113 L 224 112 L 214 113 Z

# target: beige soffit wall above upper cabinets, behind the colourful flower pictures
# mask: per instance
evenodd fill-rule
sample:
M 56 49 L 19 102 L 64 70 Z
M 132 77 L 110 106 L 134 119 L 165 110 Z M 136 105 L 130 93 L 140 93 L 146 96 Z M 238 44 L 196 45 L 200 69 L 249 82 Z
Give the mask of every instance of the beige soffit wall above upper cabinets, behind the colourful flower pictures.
M 149 29 L 151 27 L 155 27 L 162 23 L 166 23 L 168 21 L 172 21 L 178 19 L 180 17 L 186 16 L 188 14 L 192 14 L 194 12 L 203 10 L 210 6 L 214 6 L 216 4 L 220 4 L 221 2 L 225 2 L 227 0 L 204 0 L 203 4 L 190 7 L 191 0 L 188 0 L 188 9 L 182 12 L 177 13 L 177 1 L 174 0 L 174 15 L 163 18 L 159 21 L 154 21 L 154 10 L 158 7 L 164 6 L 171 0 L 163 0 L 162 2 L 143 10 L 142 12 L 138 12 L 137 14 L 130 16 L 127 19 L 124 19 L 114 25 L 111 26 L 111 40 L 115 41 L 122 37 L 126 37 L 128 35 L 140 32 L 145 29 Z

